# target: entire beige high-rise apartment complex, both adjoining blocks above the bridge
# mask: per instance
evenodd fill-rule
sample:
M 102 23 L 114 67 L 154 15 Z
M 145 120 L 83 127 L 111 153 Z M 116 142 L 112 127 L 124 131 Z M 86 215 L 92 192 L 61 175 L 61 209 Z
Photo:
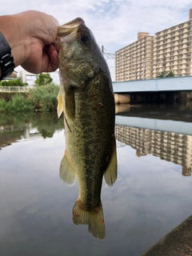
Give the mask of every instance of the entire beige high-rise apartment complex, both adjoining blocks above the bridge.
M 159 73 L 192 75 L 192 9 L 190 20 L 153 36 L 138 33 L 138 41 L 115 53 L 116 82 L 156 78 Z

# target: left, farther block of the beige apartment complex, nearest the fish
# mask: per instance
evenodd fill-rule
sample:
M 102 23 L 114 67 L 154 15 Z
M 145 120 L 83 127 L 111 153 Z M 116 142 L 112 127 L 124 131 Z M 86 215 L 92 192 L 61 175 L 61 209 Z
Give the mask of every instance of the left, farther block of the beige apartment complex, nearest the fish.
M 153 78 L 154 37 L 149 33 L 138 33 L 138 41 L 116 51 L 116 81 Z

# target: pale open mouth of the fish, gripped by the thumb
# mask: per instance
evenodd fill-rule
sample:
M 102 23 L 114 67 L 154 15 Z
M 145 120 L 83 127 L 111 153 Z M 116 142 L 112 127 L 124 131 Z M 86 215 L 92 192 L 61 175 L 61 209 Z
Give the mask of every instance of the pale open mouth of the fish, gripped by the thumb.
M 66 37 L 71 33 L 77 32 L 80 26 L 85 26 L 85 22 L 82 18 L 75 18 L 71 22 L 67 22 L 62 26 L 58 26 L 58 37 Z

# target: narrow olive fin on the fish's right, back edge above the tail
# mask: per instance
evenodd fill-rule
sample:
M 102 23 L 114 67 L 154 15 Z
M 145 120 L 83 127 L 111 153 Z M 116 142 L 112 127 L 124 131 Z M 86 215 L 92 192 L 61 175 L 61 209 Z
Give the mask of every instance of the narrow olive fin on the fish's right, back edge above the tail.
M 117 179 L 117 152 L 116 152 L 116 142 L 114 139 L 114 150 L 113 150 L 113 154 L 110 158 L 110 164 L 106 169 L 106 172 L 104 174 L 104 178 L 106 180 L 106 184 L 108 186 L 113 186 L 114 182 Z

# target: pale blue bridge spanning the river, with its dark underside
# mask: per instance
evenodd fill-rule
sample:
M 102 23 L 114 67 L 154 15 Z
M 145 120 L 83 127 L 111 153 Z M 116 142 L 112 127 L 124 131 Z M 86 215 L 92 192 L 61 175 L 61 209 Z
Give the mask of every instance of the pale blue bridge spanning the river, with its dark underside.
M 113 82 L 113 88 L 115 103 L 192 100 L 192 76 Z

